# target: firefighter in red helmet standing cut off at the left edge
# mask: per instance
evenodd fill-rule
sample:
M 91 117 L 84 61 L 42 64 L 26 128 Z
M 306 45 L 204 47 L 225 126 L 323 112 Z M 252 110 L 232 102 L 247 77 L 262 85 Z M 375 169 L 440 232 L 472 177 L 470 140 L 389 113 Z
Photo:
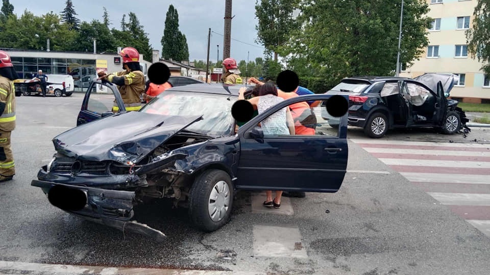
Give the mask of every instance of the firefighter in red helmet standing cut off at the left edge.
M 10 56 L 0 50 L 0 182 L 15 175 L 14 156 L 10 148 L 10 134 L 15 129 L 15 88 L 19 78 Z

